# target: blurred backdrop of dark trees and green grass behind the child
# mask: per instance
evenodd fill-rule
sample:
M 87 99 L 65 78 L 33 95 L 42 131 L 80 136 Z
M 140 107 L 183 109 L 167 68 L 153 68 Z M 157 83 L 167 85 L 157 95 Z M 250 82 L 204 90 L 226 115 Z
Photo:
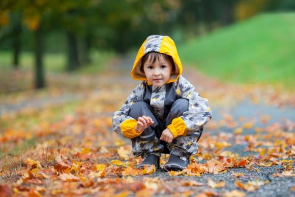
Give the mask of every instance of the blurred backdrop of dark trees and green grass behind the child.
M 1 0 L 0 95 L 129 71 L 151 34 L 207 76 L 295 85 L 295 0 Z

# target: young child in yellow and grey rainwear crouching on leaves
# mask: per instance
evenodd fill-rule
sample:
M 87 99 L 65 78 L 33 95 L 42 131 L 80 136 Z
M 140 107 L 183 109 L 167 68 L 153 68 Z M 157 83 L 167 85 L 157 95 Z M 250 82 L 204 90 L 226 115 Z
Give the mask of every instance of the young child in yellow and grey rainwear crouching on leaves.
M 137 167 L 159 167 L 161 153 L 170 154 L 166 170 L 182 170 L 198 153 L 204 125 L 211 119 L 207 99 L 182 75 L 174 41 L 150 35 L 140 47 L 131 71 L 142 80 L 113 114 L 113 130 L 130 138 L 133 154 L 144 160 Z

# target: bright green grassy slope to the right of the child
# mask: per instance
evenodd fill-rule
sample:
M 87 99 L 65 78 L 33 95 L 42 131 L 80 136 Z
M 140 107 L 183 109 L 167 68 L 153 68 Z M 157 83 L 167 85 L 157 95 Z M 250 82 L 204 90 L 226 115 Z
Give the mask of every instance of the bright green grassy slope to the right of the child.
M 262 14 L 190 40 L 183 63 L 234 83 L 295 85 L 295 13 Z M 185 68 L 184 68 L 185 69 Z

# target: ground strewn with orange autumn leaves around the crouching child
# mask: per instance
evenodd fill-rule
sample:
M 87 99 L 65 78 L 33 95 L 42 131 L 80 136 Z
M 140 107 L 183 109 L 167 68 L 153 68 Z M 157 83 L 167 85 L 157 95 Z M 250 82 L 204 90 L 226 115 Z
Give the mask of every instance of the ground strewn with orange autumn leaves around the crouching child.
M 213 113 L 199 153 L 180 172 L 163 169 L 169 155 L 157 171 L 137 170 L 130 140 L 111 128 L 112 113 L 139 83 L 131 64 L 49 76 L 48 91 L 0 98 L 0 196 L 295 196 L 294 93 L 226 84 L 185 67 Z

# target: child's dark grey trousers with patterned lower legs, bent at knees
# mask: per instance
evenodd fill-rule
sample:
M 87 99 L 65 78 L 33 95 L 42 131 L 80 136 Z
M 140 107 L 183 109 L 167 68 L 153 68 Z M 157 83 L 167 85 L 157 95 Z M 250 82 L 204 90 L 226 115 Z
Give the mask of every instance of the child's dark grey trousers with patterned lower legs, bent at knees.
M 187 99 L 177 99 L 172 104 L 167 117 L 164 117 L 165 120 L 161 120 L 153 113 L 148 103 L 144 101 L 134 103 L 130 108 L 129 116 L 136 120 L 141 116 L 149 116 L 154 121 L 154 124 L 143 131 L 140 136 L 131 139 L 134 156 L 141 156 L 144 159 L 150 154 L 160 157 L 161 153 L 170 153 L 189 158 L 189 156 L 197 154 L 197 141 L 200 138 L 200 132 L 198 134 L 192 133 L 191 135 L 178 136 L 171 143 L 159 140 L 162 132 L 171 124 L 172 120 L 188 110 L 188 104 Z

